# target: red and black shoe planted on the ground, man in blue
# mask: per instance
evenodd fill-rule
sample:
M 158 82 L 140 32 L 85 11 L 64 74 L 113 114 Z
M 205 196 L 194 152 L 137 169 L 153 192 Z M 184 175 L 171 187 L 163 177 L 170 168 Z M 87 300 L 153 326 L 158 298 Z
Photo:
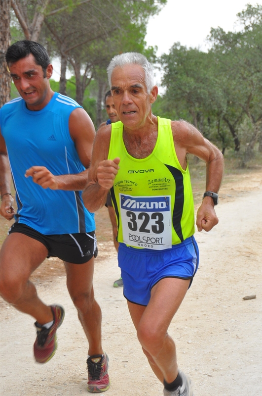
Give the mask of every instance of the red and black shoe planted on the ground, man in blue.
M 106 392 L 110 387 L 108 355 L 92 355 L 86 360 L 88 370 L 87 390 L 91 393 Z

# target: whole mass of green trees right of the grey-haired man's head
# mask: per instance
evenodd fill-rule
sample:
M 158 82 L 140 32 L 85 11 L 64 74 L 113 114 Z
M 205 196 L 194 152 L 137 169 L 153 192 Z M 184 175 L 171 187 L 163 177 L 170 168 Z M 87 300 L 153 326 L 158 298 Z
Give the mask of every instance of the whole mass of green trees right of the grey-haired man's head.
M 175 43 L 161 57 L 166 93 L 158 107 L 191 121 L 223 152 L 242 143 L 251 158 L 262 133 L 262 5 L 237 16 L 242 30 L 211 29 L 208 53 Z

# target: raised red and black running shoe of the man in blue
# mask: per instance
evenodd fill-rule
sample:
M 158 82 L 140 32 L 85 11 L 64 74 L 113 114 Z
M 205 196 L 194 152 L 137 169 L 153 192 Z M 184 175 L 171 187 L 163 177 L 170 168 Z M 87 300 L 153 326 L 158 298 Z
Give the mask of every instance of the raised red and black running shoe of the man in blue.
M 63 323 L 65 317 L 64 308 L 60 305 L 50 305 L 54 316 L 52 326 L 47 329 L 35 323 L 37 328 L 37 339 L 34 344 L 34 355 L 38 363 L 46 363 L 50 360 L 57 349 L 56 331 Z

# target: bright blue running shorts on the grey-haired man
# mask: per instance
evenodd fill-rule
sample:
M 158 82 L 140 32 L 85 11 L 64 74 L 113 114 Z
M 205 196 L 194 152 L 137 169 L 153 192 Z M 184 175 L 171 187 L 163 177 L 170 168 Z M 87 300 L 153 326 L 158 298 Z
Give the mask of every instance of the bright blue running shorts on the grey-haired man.
M 199 251 L 194 237 L 171 249 L 136 249 L 119 244 L 118 266 L 124 297 L 135 304 L 148 305 L 152 287 L 163 278 L 191 279 L 198 268 Z

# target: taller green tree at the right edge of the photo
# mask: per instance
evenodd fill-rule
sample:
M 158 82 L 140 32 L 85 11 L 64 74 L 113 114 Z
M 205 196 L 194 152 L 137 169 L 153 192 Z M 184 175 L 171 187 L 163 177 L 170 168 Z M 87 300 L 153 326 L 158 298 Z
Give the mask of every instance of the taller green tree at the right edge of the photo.
M 234 125 L 239 141 L 244 145 L 242 166 L 254 155 L 256 142 L 262 129 L 262 6 L 250 4 L 238 13 L 243 26 L 239 32 L 225 33 L 212 29 L 212 51 L 220 61 L 220 74 L 227 76 L 225 97 L 227 108 L 224 119 Z M 240 133 L 246 117 L 253 132 Z

